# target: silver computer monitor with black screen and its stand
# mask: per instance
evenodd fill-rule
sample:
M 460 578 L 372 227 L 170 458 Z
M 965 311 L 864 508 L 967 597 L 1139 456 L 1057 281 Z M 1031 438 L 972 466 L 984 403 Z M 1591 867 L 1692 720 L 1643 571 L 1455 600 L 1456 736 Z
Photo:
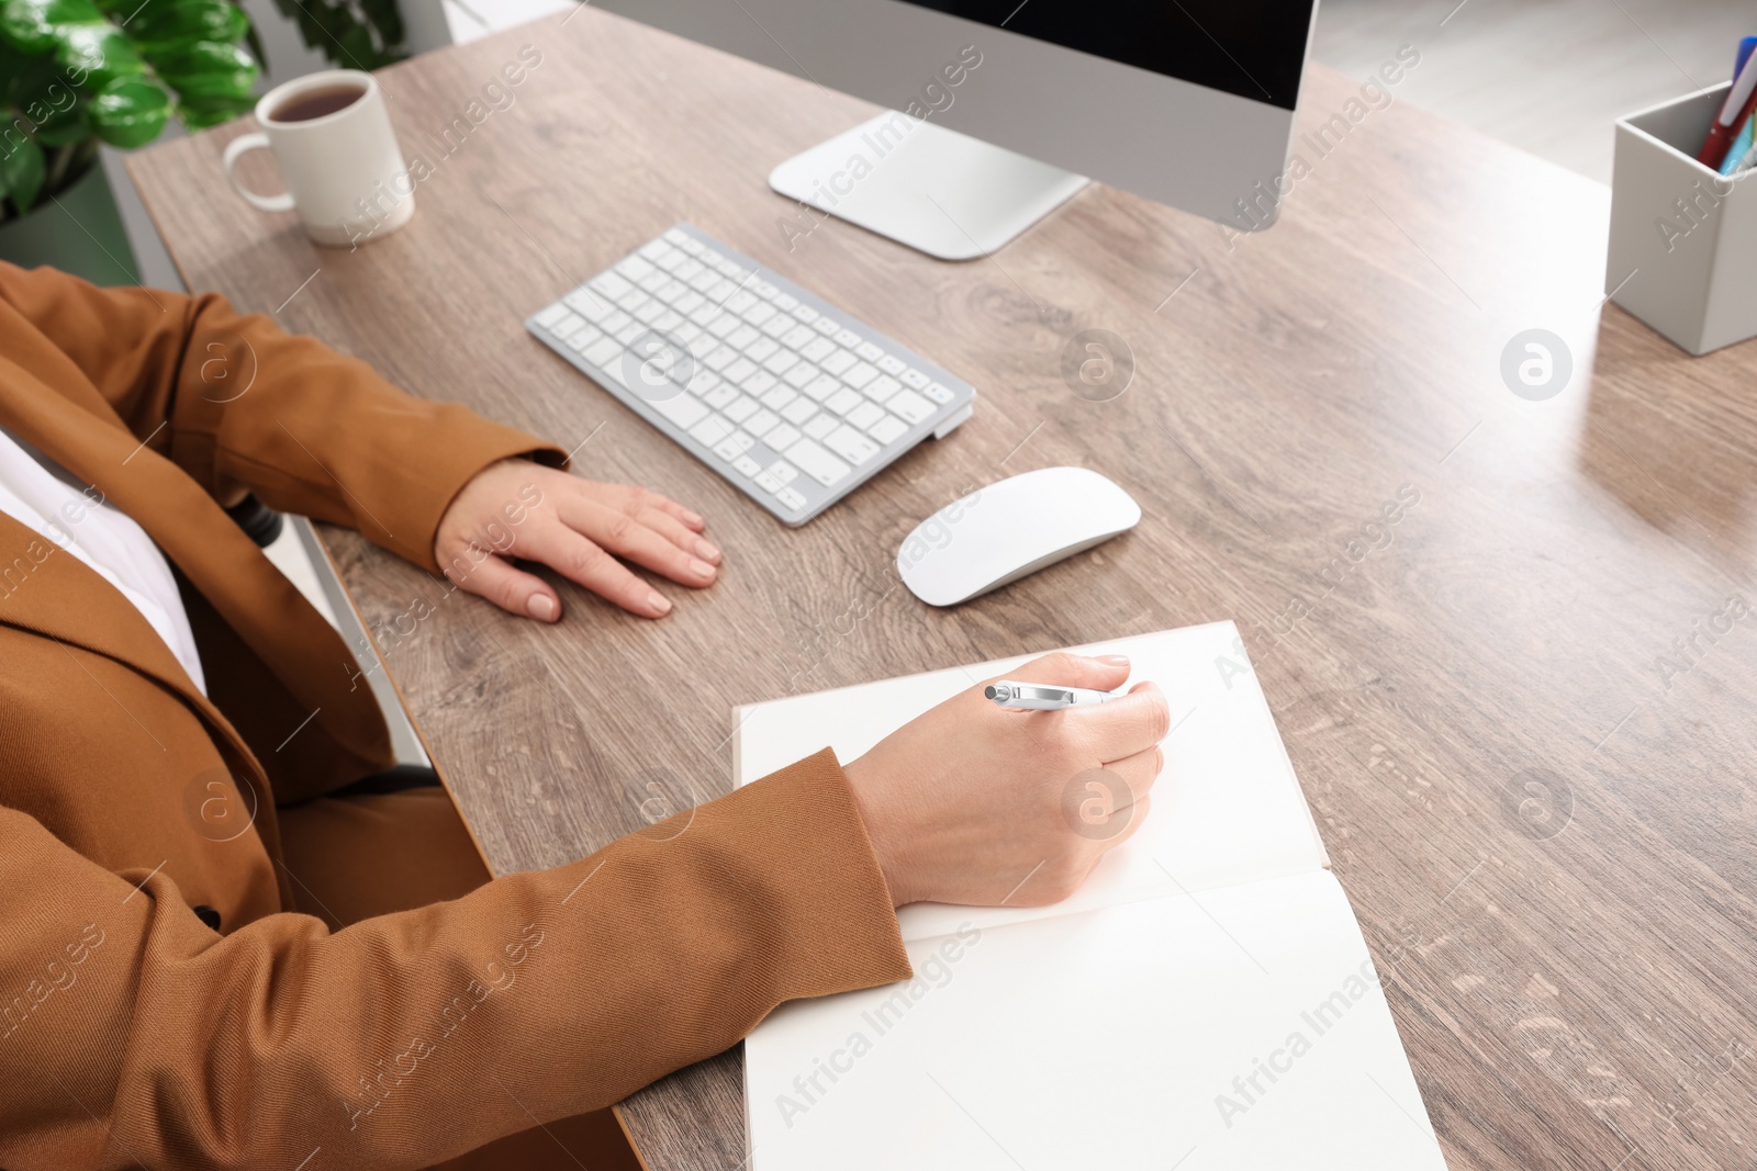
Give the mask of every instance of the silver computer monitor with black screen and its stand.
M 887 111 L 782 162 L 777 230 L 833 214 L 982 256 L 1088 177 L 1212 219 L 1276 183 L 1316 0 L 597 0 Z M 1269 214 L 1265 214 L 1265 211 Z M 1240 228 L 1267 226 L 1253 207 Z

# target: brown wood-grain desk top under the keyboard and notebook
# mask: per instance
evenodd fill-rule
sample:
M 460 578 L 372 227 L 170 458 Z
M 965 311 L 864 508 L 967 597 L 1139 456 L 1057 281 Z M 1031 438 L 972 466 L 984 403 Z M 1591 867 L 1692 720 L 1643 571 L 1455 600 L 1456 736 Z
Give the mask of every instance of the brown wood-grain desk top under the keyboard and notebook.
M 192 288 L 583 444 L 727 550 L 662 623 L 564 588 L 548 630 L 327 530 L 374 625 L 437 607 L 390 667 L 499 871 L 638 829 L 648 779 L 724 792 L 734 704 L 1235 618 L 1453 1171 L 1752 1166 L 1757 618 L 1674 639 L 1757 599 L 1757 344 L 1692 362 L 1601 305 L 1602 186 L 1395 104 L 1230 246 L 1091 188 L 993 260 L 836 221 L 789 251 L 768 169 L 868 105 L 582 9 L 385 72 L 408 153 L 524 44 L 517 104 L 358 253 L 227 191 L 242 125 L 132 165 Z M 1305 121 L 1355 84 L 1314 68 Z M 676 219 L 966 374 L 975 418 L 780 527 L 520 327 Z M 1499 374 L 1530 327 L 1578 370 L 1546 402 Z M 1061 377 L 1084 328 L 1133 349 L 1112 402 Z M 1128 486 L 1140 528 L 951 613 L 896 588 L 915 520 L 1054 463 Z M 734 1050 L 625 1103 L 655 1171 L 741 1164 L 740 1073 Z

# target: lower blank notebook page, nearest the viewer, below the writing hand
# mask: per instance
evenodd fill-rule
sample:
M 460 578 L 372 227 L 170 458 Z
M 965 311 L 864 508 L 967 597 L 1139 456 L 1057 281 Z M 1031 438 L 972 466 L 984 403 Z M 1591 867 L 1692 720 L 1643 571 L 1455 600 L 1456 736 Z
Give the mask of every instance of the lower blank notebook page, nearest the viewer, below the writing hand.
M 745 1041 L 754 1171 L 1446 1167 L 1327 871 L 908 953 Z

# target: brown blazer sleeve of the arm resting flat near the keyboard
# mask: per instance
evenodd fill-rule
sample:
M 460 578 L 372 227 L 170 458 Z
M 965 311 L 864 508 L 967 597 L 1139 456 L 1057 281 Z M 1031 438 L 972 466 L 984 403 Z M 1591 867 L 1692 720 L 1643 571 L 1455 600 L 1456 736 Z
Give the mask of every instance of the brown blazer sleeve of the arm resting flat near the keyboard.
M 11 302 L 123 423 L 211 495 L 357 528 L 437 572 L 434 532 L 483 467 L 564 453 L 467 407 L 408 395 L 323 342 L 216 293 L 97 288 L 0 263 Z M 395 534 L 395 535 L 392 535 Z

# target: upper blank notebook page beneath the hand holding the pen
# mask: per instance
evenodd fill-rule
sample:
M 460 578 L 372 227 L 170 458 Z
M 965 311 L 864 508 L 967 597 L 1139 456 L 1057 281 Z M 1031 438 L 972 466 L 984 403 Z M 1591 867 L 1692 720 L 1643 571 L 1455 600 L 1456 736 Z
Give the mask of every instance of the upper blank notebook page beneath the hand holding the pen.
M 1237 627 L 1216 621 L 1070 650 L 1128 655 L 1130 683 L 1153 679 L 1172 704 L 1174 729 L 1147 823 L 1105 855 L 1065 902 L 915 904 L 898 915 L 905 939 L 942 936 L 966 920 L 994 927 L 1328 866 Z M 754 781 L 826 744 L 838 760 L 854 760 L 928 708 L 1031 658 L 1037 655 L 740 708 L 734 779 Z

